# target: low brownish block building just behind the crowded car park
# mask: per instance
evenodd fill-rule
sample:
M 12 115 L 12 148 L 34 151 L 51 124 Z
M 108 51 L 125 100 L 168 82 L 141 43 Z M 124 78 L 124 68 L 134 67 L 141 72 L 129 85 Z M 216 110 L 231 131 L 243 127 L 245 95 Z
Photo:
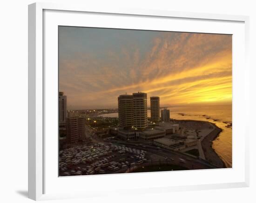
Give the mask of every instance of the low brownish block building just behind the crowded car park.
M 74 116 L 67 118 L 67 142 L 74 144 L 85 137 L 85 118 Z

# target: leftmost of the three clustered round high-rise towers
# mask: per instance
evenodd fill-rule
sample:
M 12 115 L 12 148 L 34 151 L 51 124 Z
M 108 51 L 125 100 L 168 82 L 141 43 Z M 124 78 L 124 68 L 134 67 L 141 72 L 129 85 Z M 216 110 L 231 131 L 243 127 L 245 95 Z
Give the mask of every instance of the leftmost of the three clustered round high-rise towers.
M 119 126 L 130 128 L 133 125 L 133 95 L 120 95 L 118 97 Z

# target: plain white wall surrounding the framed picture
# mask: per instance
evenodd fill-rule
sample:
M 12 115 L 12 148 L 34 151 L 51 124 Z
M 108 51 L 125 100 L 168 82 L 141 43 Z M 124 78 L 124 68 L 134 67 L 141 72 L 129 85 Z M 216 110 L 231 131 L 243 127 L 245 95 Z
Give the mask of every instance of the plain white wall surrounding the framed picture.
M 251 119 L 255 126 L 256 87 L 256 5 L 253 0 L 47 0 L 58 3 L 84 3 L 104 7 L 224 13 L 250 16 Z M 27 199 L 27 5 L 34 0 L 1 2 L 0 9 L 0 202 L 32 202 Z M 241 67 L 243 68 L 243 67 Z M 251 130 L 252 131 L 252 130 Z M 250 133 L 250 187 L 108 197 L 55 202 L 256 202 L 256 139 Z M 85 183 L 86 184 L 86 183 Z

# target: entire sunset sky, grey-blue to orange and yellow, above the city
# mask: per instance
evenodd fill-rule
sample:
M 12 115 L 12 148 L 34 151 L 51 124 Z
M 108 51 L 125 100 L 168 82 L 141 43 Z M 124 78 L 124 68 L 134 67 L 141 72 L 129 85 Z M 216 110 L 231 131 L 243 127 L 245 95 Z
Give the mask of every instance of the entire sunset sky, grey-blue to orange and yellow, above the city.
M 232 36 L 60 26 L 59 71 L 68 109 L 138 91 L 161 106 L 231 103 Z

